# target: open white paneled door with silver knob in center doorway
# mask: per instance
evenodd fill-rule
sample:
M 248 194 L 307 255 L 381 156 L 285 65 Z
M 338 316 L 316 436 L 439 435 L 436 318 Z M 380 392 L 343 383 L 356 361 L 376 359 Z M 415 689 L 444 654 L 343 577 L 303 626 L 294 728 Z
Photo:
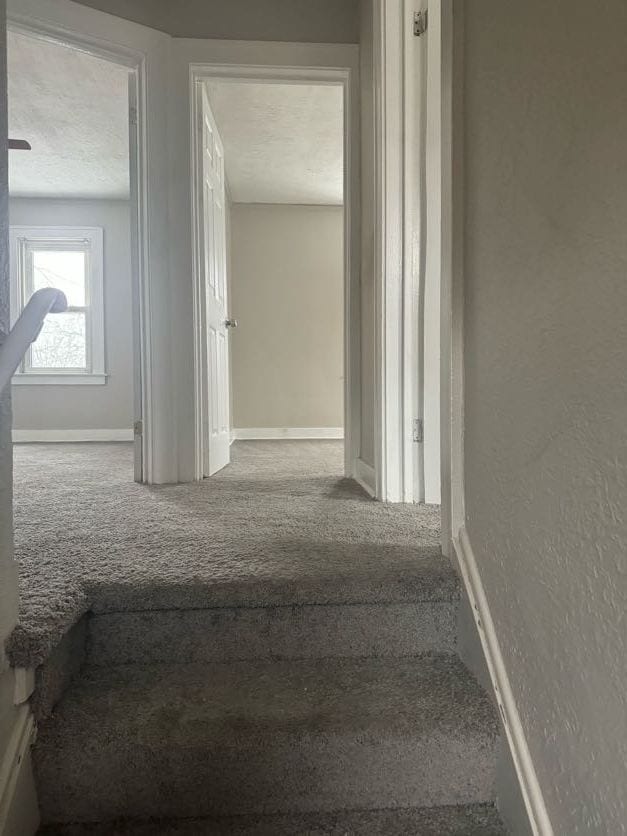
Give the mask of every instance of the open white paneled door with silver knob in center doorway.
M 224 150 L 202 85 L 202 270 L 204 273 L 203 475 L 230 460 Z

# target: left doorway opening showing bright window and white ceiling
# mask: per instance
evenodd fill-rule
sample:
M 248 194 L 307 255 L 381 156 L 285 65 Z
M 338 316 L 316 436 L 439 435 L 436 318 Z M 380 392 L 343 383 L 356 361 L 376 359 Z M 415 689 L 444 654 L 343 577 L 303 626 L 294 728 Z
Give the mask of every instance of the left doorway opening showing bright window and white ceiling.
M 138 72 L 36 27 L 7 40 L 9 133 L 30 146 L 9 161 L 11 320 L 42 288 L 67 299 L 13 378 L 16 468 L 109 457 L 143 481 Z

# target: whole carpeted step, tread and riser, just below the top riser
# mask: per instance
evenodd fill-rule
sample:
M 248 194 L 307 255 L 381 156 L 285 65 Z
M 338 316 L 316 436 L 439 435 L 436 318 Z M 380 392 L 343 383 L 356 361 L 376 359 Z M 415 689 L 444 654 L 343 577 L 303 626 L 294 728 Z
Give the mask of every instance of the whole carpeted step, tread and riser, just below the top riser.
M 267 815 L 491 803 L 498 735 L 454 655 L 128 665 L 88 668 L 34 755 L 48 823 Z

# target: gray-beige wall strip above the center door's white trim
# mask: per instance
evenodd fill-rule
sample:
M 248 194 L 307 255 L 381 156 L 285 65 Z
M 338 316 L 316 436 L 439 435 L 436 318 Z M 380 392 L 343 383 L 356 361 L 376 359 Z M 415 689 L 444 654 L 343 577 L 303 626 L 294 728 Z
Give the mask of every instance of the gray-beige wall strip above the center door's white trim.
M 359 0 L 80 0 L 179 38 L 357 43 Z

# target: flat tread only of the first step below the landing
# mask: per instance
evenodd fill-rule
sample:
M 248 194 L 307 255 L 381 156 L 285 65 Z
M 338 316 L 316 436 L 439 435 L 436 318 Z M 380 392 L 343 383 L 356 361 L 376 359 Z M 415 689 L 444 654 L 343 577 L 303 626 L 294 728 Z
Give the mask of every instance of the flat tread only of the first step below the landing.
M 70 727 L 74 739 L 95 732 L 170 745 L 216 735 L 236 745 L 269 732 L 498 735 L 490 700 L 453 655 L 90 669 L 41 739 Z

